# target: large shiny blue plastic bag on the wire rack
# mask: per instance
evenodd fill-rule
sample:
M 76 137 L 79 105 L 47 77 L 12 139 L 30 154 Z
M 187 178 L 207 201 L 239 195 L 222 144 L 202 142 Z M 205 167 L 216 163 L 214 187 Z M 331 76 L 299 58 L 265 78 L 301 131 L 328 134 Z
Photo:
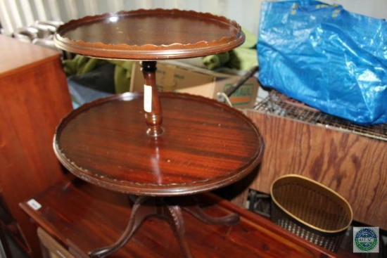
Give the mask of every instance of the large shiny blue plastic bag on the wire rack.
M 258 79 L 357 124 L 387 122 L 387 23 L 319 1 L 264 2 Z

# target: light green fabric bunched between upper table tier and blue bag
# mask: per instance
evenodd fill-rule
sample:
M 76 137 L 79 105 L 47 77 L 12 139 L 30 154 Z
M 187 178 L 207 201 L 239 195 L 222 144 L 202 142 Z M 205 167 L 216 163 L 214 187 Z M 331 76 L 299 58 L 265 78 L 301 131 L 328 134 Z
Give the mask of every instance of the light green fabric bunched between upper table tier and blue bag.
M 242 29 L 246 35 L 243 44 L 236 49 L 216 55 L 202 58 L 203 65 L 209 70 L 216 70 L 220 67 L 229 67 L 235 70 L 248 71 L 258 65 L 257 45 L 258 37 L 248 30 Z

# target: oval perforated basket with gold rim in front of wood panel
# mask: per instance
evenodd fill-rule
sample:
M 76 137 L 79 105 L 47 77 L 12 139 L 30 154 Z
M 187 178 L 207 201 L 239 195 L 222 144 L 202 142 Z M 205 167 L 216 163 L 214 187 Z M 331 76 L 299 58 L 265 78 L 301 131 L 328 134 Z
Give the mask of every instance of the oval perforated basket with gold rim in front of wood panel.
M 337 252 L 353 219 L 350 204 L 341 195 L 296 174 L 279 177 L 270 191 L 275 224 Z

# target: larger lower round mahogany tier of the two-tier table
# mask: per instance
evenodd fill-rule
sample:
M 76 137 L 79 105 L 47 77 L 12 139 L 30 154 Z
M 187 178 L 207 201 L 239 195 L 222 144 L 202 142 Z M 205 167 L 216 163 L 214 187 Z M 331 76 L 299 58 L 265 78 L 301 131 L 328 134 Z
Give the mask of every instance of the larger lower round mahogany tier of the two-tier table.
M 143 93 L 101 98 L 58 125 L 54 150 L 75 176 L 113 191 L 174 196 L 238 181 L 262 158 L 253 122 L 209 98 L 160 93 L 163 134 L 146 134 Z

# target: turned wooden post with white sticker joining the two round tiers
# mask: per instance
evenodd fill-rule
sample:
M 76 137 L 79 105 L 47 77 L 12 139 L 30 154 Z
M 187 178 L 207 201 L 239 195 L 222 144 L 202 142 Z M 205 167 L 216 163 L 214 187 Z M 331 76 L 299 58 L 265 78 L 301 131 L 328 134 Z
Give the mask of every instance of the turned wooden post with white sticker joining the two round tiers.
M 163 115 L 156 85 L 156 69 L 156 61 L 141 61 L 141 71 L 144 75 L 144 111 L 148 124 L 146 134 L 153 137 L 163 134 L 161 127 Z

